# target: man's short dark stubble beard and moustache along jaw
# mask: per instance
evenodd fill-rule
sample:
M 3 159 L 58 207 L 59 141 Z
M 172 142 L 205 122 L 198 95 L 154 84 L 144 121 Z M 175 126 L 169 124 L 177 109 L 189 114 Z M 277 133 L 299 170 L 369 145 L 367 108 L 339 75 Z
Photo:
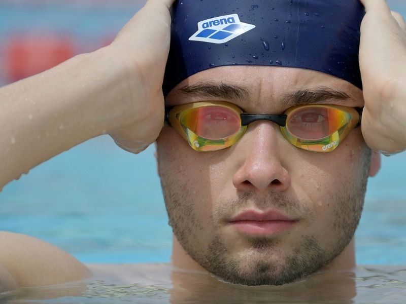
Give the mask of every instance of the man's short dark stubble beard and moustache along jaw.
M 185 191 L 180 185 L 181 180 L 173 175 L 165 176 L 160 169 L 161 184 L 165 205 L 170 218 L 170 225 L 184 250 L 198 264 L 221 280 L 242 285 L 283 285 L 296 282 L 317 272 L 328 265 L 346 248 L 352 240 L 361 217 L 363 201 L 366 191 L 368 164 L 370 151 L 367 150 L 362 164 L 362 172 L 358 182 L 348 182 L 336 187 L 331 232 L 334 242 L 329 248 L 322 246 L 315 235 L 304 235 L 290 252 L 284 252 L 278 246 L 278 239 L 250 238 L 250 254 L 235 255 L 231 246 L 222 238 L 221 224 L 213 216 L 211 227 L 213 236 L 207 245 L 199 244 L 199 236 L 205 234 L 204 225 L 196 214 L 193 195 Z M 254 192 L 239 197 L 238 201 L 222 202 L 215 206 L 226 206 L 241 210 L 249 201 L 255 201 L 258 207 L 276 207 L 287 214 L 300 214 L 311 217 L 312 211 L 303 207 L 299 201 L 288 200 L 282 194 L 270 191 L 266 199 L 258 200 Z M 224 210 L 217 210 L 222 214 Z M 275 259 L 275 256 L 278 259 Z

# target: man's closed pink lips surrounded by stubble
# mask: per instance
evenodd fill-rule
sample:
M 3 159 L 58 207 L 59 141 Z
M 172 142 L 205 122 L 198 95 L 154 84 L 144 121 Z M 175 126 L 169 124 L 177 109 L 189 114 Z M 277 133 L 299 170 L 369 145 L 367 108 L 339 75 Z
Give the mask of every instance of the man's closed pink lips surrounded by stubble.
M 297 221 L 277 210 L 247 210 L 229 220 L 228 225 L 245 235 L 273 236 L 289 230 Z

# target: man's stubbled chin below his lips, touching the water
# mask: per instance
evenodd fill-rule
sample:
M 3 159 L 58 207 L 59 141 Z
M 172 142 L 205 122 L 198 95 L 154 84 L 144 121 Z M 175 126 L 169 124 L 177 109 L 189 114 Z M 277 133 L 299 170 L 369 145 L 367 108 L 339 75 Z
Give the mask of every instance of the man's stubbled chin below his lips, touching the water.
M 285 248 L 283 242 L 269 239 L 251 239 L 249 246 L 240 250 L 235 247 L 231 250 L 223 242 L 214 243 L 204 267 L 222 281 L 233 284 L 258 286 L 294 283 L 328 262 L 325 251 L 312 237 L 304 238 L 298 247 L 290 249 Z

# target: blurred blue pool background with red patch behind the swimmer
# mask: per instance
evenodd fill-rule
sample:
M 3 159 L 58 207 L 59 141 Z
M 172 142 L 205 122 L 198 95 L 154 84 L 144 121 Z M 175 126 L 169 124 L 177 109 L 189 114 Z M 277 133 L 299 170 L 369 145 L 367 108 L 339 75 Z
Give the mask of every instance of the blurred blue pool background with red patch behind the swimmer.
M 145 1 L 0 0 L 0 85 L 108 45 Z M 406 16 L 404 0 L 388 1 Z M 131 155 L 108 136 L 32 169 L 0 193 L 0 230 L 50 242 L 83 262 L 168 262 L 154 147 Z M 361 264 L 406 264 L 406 153 L 369 180 L 357 232 Z M 0 245 L 1 250 L 7 250 Z

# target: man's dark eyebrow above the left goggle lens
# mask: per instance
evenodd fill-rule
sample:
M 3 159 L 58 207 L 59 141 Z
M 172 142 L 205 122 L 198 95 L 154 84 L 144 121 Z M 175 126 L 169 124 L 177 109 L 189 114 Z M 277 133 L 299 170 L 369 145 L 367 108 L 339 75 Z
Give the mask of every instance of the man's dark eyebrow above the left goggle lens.
M 195 85 L 186 85 L 179 88 L 182 95 L 202 98 L 222 98 L 222 99 L 239 99 L 247 100 L 249 97 L 248 90 L 225 83 L 197 83 Z

